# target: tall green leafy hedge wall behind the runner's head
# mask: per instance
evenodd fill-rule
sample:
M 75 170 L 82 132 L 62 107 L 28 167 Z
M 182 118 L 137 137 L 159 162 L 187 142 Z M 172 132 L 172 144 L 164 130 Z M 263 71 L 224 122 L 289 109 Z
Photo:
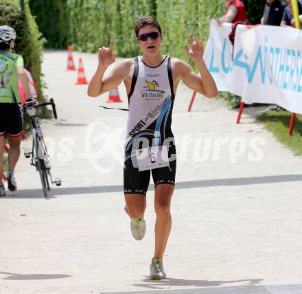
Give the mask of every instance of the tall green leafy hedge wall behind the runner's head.
M 163 53 L 186 58 L 183 43 L 188 42 L 189 32 L 206 41 L 207 19 L 224 14 L 224 3 L 218 0 L 56 0 L 48 6 L 46 0 L 31 0 L 30 3 L 48 45 L 72 45 L 78 51 L 96 52 L 113 38 L 117 56 L 139 54 L 133 30 L 139 16 L 152 15 L 159 20 L 164 36 Z M 60 9 L 56 8 L 58 3 L 62 3 Z M 51 10 L 50 15 L 54 12 L 64 15 L 63 23 L 57 15 L 54 20 L 58 20 L 58 24 L 51 25 L 48 10 Z

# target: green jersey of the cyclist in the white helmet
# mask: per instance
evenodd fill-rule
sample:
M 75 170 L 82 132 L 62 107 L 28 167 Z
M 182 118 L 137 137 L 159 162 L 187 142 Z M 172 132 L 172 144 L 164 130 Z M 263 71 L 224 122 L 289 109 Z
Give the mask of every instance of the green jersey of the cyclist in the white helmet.
M 17 67 L 24 67 L 21 55 L 0 51 L 0 103 L 20 103 Z

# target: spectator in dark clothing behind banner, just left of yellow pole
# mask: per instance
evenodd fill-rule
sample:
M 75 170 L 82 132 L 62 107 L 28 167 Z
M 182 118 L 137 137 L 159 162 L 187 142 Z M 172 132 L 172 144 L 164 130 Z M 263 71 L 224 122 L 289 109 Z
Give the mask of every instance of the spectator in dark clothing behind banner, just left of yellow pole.
M 262 25 L 279 26 L 282 20 L 284 7 L 280 0 L 266 0 L 264 16 L 261 19 Z

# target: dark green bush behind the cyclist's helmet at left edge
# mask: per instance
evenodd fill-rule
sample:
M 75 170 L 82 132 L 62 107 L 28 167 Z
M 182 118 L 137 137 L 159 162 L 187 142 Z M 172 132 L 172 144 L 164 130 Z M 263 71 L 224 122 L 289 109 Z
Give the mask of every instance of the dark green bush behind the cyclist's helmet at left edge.
M 0 25 L 10 25 L 16 30 L 14 51 L 23 56 L 25 68 L 32 73 L 39 97 L 43 98 L 41 81 L 43 44 L 40 41 L 42 34 L 38 31 L 28 3 L 25 3 L 25 11 L 22 12 L 20 1 L 0 0 Z

